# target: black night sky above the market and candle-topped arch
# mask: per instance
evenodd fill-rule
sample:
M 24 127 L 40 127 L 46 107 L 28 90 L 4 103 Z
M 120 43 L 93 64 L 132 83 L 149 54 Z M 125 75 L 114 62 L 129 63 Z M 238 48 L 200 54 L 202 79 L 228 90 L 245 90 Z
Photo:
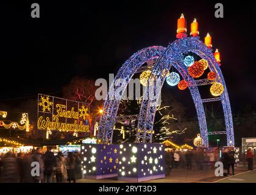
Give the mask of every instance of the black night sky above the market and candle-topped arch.
M 32 2 L 39 2 L 39 19 L 31 18 Z M 214 17 L 217 2 L 224 4 L 224 18 Z M 58 96 L 74 76 L 107 78 L 139 49 L 174 41 L 184 13 L 189 25 L 197 18 L 201 38 L 210 32 L 214 50 L 221 52 L 233 112 L 246 104 L 256 108 L 252 2 L 1 2 L 0 102 L 13 104 L 37 93 Z

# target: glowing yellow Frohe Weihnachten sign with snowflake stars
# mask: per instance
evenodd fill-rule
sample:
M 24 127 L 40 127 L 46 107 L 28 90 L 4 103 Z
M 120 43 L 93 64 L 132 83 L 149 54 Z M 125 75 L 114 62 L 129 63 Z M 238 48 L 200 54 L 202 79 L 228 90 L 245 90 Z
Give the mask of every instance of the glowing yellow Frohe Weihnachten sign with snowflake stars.
M 38 94 L 38 129 L 89 132 L 88 116 L 89 109 L 83 102 Z

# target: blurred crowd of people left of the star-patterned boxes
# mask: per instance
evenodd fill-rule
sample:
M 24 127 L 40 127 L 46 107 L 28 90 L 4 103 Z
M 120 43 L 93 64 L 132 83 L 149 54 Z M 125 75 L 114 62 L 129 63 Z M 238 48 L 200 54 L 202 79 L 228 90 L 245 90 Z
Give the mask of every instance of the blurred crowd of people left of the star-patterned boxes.
M 37 162 L 39 165 L 39 174 L 36 174 L 36 169 L 33 169 L 32 162 Z M 67 157 L 64 157 L 62 152 L 54 155 L 48 150 L 43 154 L 42 149 L 37 148 L 28 154 L 15 155 L 12 152 L 7 152 L 0 156 L 0 182 L 75 183 L 77 179 L 81 179 L 79 152 L 68 152 Z

